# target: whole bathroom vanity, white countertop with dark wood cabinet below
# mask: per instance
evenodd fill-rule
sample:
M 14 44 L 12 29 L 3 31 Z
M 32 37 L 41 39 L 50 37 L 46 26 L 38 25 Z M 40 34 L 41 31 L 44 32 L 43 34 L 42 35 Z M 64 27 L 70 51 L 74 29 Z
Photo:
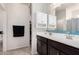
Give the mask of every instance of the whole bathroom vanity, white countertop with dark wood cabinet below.
M 58 35 L 57 35 L 58 34 Z M 55 36 L 56 35 L 56 36 Z M 79 40 L 67 39 L 61 33 L 37 33 L 37 52 L 40 55 L 79 55 Z M 58 37 L 59 36 L 59 37 Z M 75 39 L 75 40 L 74 40 Z

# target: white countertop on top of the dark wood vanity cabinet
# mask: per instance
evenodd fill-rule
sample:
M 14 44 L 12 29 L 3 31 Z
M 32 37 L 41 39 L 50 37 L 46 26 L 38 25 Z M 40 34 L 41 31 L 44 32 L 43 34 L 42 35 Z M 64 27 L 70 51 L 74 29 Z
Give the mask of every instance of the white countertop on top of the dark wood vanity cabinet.
M 37 32 L 37 35 L 79 48 L 79 35 L 73 35 L 72 39 L 67 39 L 66 34 L 62 33 L 52 33 L 52 35 L 49 35 L 48 32 Z

